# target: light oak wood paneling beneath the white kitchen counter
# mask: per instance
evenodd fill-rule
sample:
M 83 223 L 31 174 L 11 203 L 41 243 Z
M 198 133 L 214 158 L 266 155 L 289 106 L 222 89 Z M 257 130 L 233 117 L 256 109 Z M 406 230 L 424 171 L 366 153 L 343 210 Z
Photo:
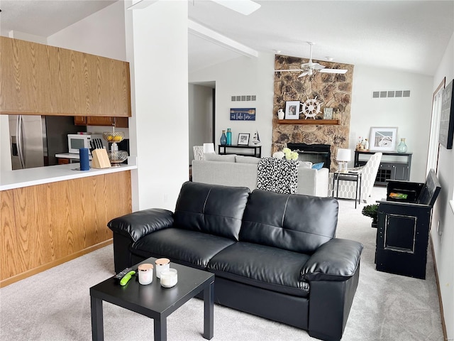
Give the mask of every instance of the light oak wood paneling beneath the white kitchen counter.
M 112 238 L 107 222 L 132 207 L 129 171 L 0 193 L 0 286 L 105 243 Z

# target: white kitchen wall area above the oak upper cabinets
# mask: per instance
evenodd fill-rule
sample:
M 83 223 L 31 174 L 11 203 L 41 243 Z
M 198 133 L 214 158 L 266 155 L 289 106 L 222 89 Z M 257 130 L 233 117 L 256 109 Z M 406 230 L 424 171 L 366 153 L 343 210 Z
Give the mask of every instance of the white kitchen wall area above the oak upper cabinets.
M 126 60 L 124 11 L 123 1 L 117 1 L 48 36 L 48 45 Z

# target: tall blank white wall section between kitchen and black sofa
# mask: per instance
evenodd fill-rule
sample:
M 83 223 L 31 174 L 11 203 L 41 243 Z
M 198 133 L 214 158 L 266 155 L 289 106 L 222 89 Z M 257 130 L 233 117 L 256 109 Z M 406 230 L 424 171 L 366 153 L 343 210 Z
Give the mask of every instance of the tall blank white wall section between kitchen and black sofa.
M 133 209 L 174 210 L 189 179 L 187 6 L 187 1 L 158 1 L 133 11 L 133 41 L 127 43 L 134 70 L 130 135 L 135 126 L 138 156 Z

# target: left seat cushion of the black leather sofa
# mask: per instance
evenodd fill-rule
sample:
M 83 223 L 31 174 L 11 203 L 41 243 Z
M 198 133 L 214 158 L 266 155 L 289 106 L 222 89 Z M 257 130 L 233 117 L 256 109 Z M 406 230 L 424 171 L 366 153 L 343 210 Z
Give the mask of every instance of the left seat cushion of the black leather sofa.
M 143 257 L 166 257 L 178 264 L 205 269 L 211 257 L 233 244 L 233 240 L 187 229 L 168 228 L 146 235 L 131 245 Z

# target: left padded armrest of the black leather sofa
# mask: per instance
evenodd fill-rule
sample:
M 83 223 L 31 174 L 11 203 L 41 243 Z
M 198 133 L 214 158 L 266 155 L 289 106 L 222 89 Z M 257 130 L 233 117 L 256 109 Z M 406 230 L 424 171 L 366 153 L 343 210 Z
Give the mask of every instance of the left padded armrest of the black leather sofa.
M 140 238 L 151 232 L 172 227 L 172 224 L 173 213 L 171 211 L 152 208 L 114 218 L 107 223 L 107 226 L 113 232 L 129 237 L 133 242 L 137 242 Z

